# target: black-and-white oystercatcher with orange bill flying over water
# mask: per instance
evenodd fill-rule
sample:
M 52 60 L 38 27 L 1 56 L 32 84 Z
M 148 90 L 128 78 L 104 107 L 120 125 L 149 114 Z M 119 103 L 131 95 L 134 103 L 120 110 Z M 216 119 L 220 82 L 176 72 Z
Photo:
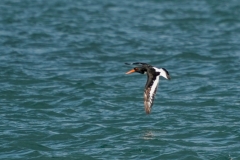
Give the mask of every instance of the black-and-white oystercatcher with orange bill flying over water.
M 157 68 L 147 63 L 134 62 L 125 63 L 126 65 L 138 65 L 139 67 L 134 67 L 132 70 L 126 72 L 126 74 L 131 74 L 138 72 L 140 74 L 147 74 L 147 82 L 144 89 L 144 108 L 146 114 L 151 113 L 153 106 L 154 97 L 158 88 L 160 76 L 170 80 L 171 77 L 169 72 L 165 68 Z

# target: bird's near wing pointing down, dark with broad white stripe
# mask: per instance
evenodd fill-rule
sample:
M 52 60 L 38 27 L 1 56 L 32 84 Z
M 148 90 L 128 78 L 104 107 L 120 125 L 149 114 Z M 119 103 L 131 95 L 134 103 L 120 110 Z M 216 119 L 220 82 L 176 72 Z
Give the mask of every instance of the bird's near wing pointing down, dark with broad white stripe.
M 144 90 L 144 108 L 147 114 L 151 112 L 154 96 L 159 83 L 159 75 L 148 75 L 148 80 Z

